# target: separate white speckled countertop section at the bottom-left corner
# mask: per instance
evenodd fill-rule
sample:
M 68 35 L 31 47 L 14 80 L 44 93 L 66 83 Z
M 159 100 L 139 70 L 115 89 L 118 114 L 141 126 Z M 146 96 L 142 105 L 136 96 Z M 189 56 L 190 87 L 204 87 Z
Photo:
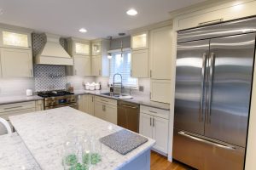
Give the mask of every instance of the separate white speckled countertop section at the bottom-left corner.
M 39 170 L 26 145 L 17 133 L 0 136 L 0 169 L 4 170 Z

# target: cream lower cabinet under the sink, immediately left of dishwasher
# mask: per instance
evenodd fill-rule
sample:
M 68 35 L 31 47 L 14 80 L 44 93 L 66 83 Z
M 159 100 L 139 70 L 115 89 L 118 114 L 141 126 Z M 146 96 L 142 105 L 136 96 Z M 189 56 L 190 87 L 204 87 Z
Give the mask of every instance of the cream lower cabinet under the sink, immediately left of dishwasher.
M 102 97 L 95 97 L 95 116 L 107 122 L 117 124 L 117 101 Z

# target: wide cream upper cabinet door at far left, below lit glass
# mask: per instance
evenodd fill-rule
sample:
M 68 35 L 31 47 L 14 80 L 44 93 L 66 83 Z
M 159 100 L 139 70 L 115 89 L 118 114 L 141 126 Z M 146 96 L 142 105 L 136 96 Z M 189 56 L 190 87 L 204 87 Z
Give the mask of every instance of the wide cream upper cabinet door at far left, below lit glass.
M 32 51 L 1 48 L 3 77 L 32 77 Z

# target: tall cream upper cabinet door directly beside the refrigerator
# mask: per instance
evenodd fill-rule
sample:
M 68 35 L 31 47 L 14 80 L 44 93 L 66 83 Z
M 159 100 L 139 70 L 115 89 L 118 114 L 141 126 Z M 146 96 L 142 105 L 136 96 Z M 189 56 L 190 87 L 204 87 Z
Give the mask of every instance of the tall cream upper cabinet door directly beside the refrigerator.
M 150 31 L 150 77 L 171 79 L 172 26 Z

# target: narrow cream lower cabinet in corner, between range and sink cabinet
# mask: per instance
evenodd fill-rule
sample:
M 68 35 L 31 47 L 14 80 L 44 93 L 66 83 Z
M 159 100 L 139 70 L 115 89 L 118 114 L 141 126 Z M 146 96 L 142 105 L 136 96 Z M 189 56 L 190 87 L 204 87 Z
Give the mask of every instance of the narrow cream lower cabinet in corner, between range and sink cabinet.
M 79 111 L 83 111 L 94 116 L 94 95 L 79 95 Z

